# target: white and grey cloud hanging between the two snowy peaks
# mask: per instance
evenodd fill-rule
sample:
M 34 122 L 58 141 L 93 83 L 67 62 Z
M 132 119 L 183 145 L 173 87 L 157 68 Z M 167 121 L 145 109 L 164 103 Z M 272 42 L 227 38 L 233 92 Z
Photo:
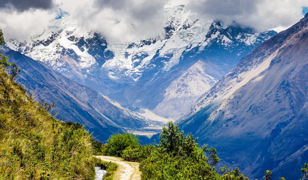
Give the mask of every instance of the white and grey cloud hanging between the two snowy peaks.
M 72 6 L 72 4 L 78 4 Z M 65 0 L 59 5 L 77 24 L 127 42 L 164 33 L 164 0 Z

